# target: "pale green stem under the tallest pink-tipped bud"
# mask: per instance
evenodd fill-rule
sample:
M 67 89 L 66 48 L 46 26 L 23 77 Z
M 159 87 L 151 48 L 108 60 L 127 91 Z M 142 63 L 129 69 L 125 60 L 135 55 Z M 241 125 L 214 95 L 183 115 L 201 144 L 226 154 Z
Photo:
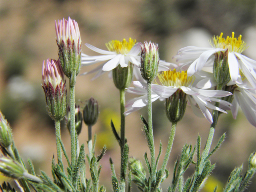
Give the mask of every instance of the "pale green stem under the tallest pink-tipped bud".
M 71 80 L 70 80 L 71 82 Z M 70 85 L 70 136 L 71 136 L 71 166 L 76 165 L 76 128 L 75 128 L 75 86 Z

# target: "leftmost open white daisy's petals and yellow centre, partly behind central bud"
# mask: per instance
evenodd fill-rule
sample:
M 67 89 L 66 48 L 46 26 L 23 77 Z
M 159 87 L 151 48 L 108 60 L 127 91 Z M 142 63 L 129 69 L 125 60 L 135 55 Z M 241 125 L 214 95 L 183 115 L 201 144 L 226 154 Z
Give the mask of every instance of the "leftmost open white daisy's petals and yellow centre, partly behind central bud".
M 133 40 L 132 38 L 129 38 L 128 42 L 125 39 L 123 39 L 122 42 L 118 40 L 112 40 L 106 43 L 108 51 L 96 48 L 90 44 L 85 44 L 91 50 L 103 55 L 88 56 L 86 54 L 82 54 L 82 66 L 88 66 L 100 62 L 103 63 L 96 67 L 94 70 L 85 72 L 82 75 L 97 72 L 96 76 L 93 78 L 95 79 L 98 76 L 104 74 L 106 71 L 113 70 L 119 64 L 121 67 L 127 67 L 128 63 L 131 62 L 136 66 L 134 67 L 133 74 L 136 79 L 140 80 L 140 44 L 141 43 L 136 43 L 136 40 Z M 177 67 L 177 65 L 160 60 L 158 71 L 169 70 L 170 68 L 174 67 Z

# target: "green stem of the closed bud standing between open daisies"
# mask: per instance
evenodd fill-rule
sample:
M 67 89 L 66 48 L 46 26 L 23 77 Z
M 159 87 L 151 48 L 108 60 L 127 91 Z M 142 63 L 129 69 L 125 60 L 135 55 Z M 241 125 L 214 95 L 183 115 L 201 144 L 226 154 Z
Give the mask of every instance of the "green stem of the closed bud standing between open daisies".
M 156 177 L 156 158 L 155 158 L 155 145 L 154 145 L 154 135 L 153 135 L 153 124 L 152 124 L 152 102 L 151 102 L 151 82 L 147 82 L 148 85 L 148 140 L 150 144 L 148 145 L 150 148 L 150 156 L 151 156 L 151 178 L 152 182 L 154 182 Z

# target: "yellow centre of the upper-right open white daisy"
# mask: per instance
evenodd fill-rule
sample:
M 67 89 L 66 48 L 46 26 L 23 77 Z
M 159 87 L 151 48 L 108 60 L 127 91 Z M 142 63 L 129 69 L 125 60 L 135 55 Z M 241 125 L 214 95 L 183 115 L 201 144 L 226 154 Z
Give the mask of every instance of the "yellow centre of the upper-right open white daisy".
M 210 44 L 214 48 L 228 48 L 229 52 L 242 53 L 247 48 L 246 43 L 242 40 L 242 35 L 238 38 L 234 38 L 234 34 L 235 33 L 232 32 L 232 37 L 227 36 L 226 39 L 222 38 L 223 33 L 221 33 L 220 36 L 213 36 L 213 42 L 210 40 Z

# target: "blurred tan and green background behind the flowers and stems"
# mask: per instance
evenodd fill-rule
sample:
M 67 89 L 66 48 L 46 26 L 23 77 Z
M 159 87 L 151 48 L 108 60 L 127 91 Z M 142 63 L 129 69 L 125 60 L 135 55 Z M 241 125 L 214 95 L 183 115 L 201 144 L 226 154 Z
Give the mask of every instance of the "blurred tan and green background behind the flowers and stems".
M 244 55 L 256 60 L 256 1 L 255 0 L 170 0 L 170 1 L 0 1 L 0 110 L 10 122 L 15 144 L 24 161 L 29 157 L 40 170 L 51 174 L 51 158 L 56 156 L 54 122 L 46 113 L 45 96 L 41 86 L 42 63 L 47 58 L 57 59 L 54 20 L 70 16 L 78 22 L 82 38 L 82 52 L 97 55 L 84 46 L 92 44 L 106 50 L 110 40 L 133 38 L 137 42 L 152 41 L 159 44 L 160 59 L 174 62 L 172 57 L 185 46 L 210 47 L 213 35 L 235 37 L 242 35 L 248 49 Z M 81 73 L 96 66 L 83 67 Z M 110 119 L 120 126 L 119 91 L 108 78 L 108 74 L 91 81 L 95 74 L 78 76 L 76 80 L 76 104 L 83 107 L 84 101 L 93 96 L 100 105 L 100 116 L 93 134 L 97 134 L 96 154 L 107 145 L 107 152 L 101 160 L 101 184 L 112 191 L 110 183 L 109 158 L 114 160 L 116 172 L 120 167 L 120 148 L 112 135 Z M 135 97 L 126 94 L 127 100 Z M 165 116 L 164 103 L 153 103 L 153 127 L 156 151 L 160 141 L 163 153 L 166 150 L 170 122 Z M 126 138 L 130 156 L 144 163 L 144 153 L 149 153 L 139 114 L 146 116 L 145 109 L 134 112 L 126 118 Z M 196 144 L 198 134 L 204 146 L 210 124 L 205 118 L 198 118 L 190 107 L 178 124 L 174 146 L 168 162 L 169 178 L 162 184 L 167 189 L 172 180 L 174 161 L 179 158 L 185 143 Z M 62 139 L 70 154 L 70 136 L 62 122 Z M 226 132 L 226 141 L 212 156 L 216 163 L 208 182 L 202 191 L 218 191 L 224 187 L 230 172 L 248 165 L 249 155 L 256 150 L 256 129 L 240 111 L 236 120 L 230 113 L 220 116 L 213 146 Z M 80 144 L 86 144 L 87 127 L 83 125 L 79 136 Z M 87 150 L 87 148 L 86 148 Z M 87 151 L 86 151 L 87 152 Z M 164 155 L 162 155 L 163 158 Z M 160 160 L 160 163 L 162 159 Z M 88 164 L 86 164 L 88 165 Z M 88 168 L 88 167 L 87 167 Z M 88 170 L 88 169 L 87 169 Z M 186 176 L 190 176 L 190 166 Z M 89 175 L 88 175 L 89 177 Z M 1 182 L 4 178 L 1 178 Z M 134 186 L 133 191 L 137 189 Z M 246 191 L 256 191 L 256 180 Z

